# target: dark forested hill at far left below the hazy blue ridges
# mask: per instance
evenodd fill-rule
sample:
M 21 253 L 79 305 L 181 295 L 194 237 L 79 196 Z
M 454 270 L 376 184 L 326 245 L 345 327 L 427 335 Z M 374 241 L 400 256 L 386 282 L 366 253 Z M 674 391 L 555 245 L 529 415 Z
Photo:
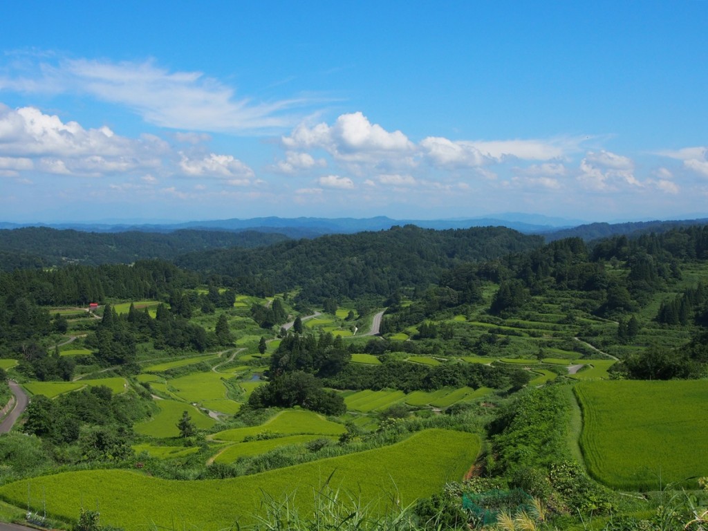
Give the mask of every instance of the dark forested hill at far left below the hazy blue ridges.
M 178 230 L 169 234 L 114 234 L 46 227 L 0 230 L 0 269 L 47 267 L 66 263 L 132 263 L 145 258 L 171 260 L 190 251 L 252 248 L 286 240 L 282 234 Z

